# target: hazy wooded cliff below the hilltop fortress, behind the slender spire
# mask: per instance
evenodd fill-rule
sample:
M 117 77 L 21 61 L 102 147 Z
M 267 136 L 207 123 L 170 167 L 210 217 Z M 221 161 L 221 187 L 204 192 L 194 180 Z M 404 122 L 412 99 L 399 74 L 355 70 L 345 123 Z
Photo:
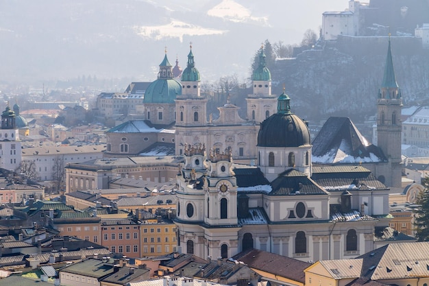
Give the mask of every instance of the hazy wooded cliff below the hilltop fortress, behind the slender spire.
M 280 94 L 284 85 L 293 111 L 309 120 L 345 116 L 362 122 L 376 114 L 388 40 L 343 37 L 278 60 L 271 68 L 273 93 Z M 391 38 L 391 43 L 404 105 L 429 103 L 429 50 L 413 37 Z

